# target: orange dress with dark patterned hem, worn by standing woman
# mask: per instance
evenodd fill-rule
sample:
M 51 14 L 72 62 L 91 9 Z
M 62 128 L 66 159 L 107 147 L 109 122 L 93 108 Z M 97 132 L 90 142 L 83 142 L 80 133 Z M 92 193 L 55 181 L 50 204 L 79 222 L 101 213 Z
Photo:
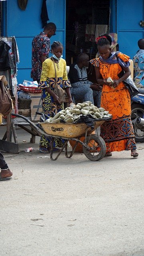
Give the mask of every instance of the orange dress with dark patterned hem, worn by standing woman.
M 118 57 L 124 62 L 130 59 L 122 53 L 118 53 Z M 118 74 L 122 71 L 118 63 L 101 62 L 99 58 L 90 60 L 90 63 L 99 67 L 103 79 L 110 76 L 112 80 L 117 80 Z M 100 136 L 106 142 L 107 152 L 136 149 L 131 121 L 130 94 L 123 82 L 120 82 L 115 89 L 103 85 L 101 107 L 112 114 L 112 120 L 103 124 L 100 132 Z

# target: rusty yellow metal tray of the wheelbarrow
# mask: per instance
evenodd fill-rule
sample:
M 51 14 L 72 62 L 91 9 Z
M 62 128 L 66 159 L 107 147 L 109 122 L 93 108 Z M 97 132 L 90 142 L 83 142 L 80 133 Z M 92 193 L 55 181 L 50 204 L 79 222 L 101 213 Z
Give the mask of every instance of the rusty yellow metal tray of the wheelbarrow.
M 94 129 L 91 130 L 85 123 L 39 123 L 47 134 L 55 135 L 65 138 L 78 138 L 85 136 L 86 128 L 87 134 L 91 134 L 96 128 L 103 124 L 105 120 L 96 120 L 94 122 Z

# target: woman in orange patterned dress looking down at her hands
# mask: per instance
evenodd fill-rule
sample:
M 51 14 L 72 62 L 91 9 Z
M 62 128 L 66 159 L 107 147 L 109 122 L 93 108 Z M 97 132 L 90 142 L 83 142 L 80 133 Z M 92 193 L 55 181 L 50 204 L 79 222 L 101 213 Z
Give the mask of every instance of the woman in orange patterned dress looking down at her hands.
M 121 52 L 111 53 L 112 39 L 108 34 L 96 38 L 100 57 L 90 60 L 95 66 L 96 80 L 102 85 L 101 107 L 112 114 L 112 120 L 101 126 L 100 136 L 105 140 L 106 156 L 113 151 L 131 150 L 131 156 L 137 157 L 134 130 L 131 121 L 131 103 L 128 89 L 124 81 L 131 72 L 128 57 Z M 121 78 L 118 74 L 124 70 Z M 114 82 L 107 82 L 111 77 Z

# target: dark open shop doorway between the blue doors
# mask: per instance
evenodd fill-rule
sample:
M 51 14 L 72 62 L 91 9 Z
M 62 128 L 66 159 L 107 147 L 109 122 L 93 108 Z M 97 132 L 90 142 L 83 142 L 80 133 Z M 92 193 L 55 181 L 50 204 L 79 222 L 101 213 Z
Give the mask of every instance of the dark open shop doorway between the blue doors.
M 103 30 L 104 29 L 104 30 Z M 76 61 L 80 52 L 95 58 L 95 38 L 110 31 L 110 0 L 66 0 L 66 63 Z

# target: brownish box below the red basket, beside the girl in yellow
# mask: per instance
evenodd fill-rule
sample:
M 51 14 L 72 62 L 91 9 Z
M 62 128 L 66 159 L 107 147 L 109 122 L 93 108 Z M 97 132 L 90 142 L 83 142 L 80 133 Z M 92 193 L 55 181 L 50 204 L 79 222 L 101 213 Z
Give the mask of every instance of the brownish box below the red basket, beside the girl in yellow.
M 28 93 L 30 94 L 30 98 L 32 100 L 32 103 L 30 105 L 31 108 L 31 118 L 32 121 L 39 121 L 40 115 L 36 114 L 36 111 L 42 112 L 42 94 L 41 93 Z

